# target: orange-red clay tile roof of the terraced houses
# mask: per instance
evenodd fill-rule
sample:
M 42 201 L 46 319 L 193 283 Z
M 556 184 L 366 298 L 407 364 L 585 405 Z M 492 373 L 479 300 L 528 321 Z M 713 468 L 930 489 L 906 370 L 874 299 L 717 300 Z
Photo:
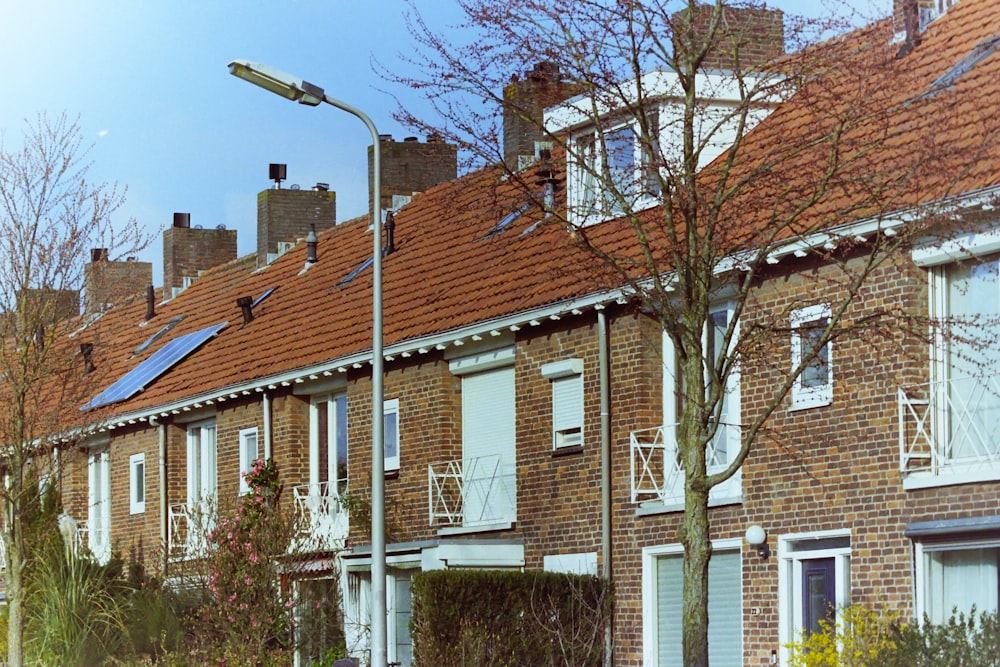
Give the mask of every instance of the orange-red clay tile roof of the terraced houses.
M 889 43 L 888 23 L 858 31 L 828 47 L 853 58 L 845 61 L 847 71 L 834 70 L 807 84 L 748 137 L 743 150 L 751 161 L 759 163 L 776 152 L 788 159 L 734 200 L 730 219 L 740 223 L 729 225 L 735 230 L 732 246 L 753 247 L 760 241 L 771 215 L 766 204 L 773 204 L 776 195 L 790 197 L 786 205 L 794 206 L 794 198 L 807 193 L 809 175 L 821 168 L 817 156 L 825 149 L 821 144 L 809 146 L 807 138 L 846 118 L 838 110 L 848 102 L 855 109 L 888 108 L 892 112 L 884 117 L 856 114 L 857 118 L 849 119 L 854 126 L 844 145 L 854 151 L 848 157 L 858 162 L 849 179 L 821 197 L 803 222 L 804 228 L 817 221 L 848 222 L 843 211 L 851 209 L 851 198 L 862 203 L 857 217 L 868 214 L 871 206 L 864 201 L 865 188 L 891 186 L 911 166 L 912 156 L 925 149 L 938 155 L 941 168 L 936 171 L 933 164 L 921 165 L 919 180 L 900 183 L 892 193 L 892 208 L 1000 183 L 996 143 L 1000 53 L 978 63 L 951 87 L 927 94 L 931 83 L 973 46 L 1000 31 L 998 18 L 1000 0 L 963 0 L 930 26 L 915 51 L 899 59 L 893 58 L 899 45 Z M 884 146 L 866 152 L 876 138 Z M 940 150 L 942 146 L 947 150 Z M 420 194 L 396 214 L 396 250 L 384 260 L 386 346 L 614 285 L 614 278 L 594 268 L 593 259 L 565 228 L 542 224 L 522 235 L 541 219 L 535 208 L 501 233 L 483 238 L 525 201 L 516 185 L 505 182 L 499 170 L 488 168 Z M 372 271 L 369 268 L 349 284 L 338 285 L 371 257 L 372 237 L 366 227 L 367 221 L 358 219 L 324 233 L 319 239 L 319 261 L 305 271 L 304 244 L 259 271 L 254 270 L 252 257 L 218 267 L 173 300 L 158 305 L 156 317 L 145 325 L 145 306 L 140 301 L 105 314 L 78 333 L 73 343 L 98 343 L 94 359 L 101 382 L 94 395 L 168 340 L 223 321 L 229 325 L 133 398 L 86 417 L 102 412 L 141 413 L 297 369 L 342 363 L 352 357 L 360 360 L 371 349 Z M 592 232 L 607 247 L 629 248 L 627 233 L 614 225 L 601 225 Z M 254 309 L 253 321 L 244 326 L 237 298 L 256 298 L 272 288 L 276 291 Z M 185 318 L 169 335 L 131 356 L 138 345 L 179 315 Z

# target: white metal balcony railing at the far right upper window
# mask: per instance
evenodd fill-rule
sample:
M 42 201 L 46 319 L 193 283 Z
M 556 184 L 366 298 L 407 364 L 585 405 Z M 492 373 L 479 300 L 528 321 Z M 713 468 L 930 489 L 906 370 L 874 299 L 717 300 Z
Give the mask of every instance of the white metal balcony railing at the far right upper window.
M 1000 377 L 931 382 L 897 396 L 903 475 L 1000 470 Z

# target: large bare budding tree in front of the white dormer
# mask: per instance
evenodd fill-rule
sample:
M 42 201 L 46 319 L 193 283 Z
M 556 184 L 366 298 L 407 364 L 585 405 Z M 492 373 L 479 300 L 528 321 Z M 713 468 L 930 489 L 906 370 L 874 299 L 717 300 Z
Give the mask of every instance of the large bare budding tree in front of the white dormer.
M 683 660 L 707 665 L 713 488 L 739 471 L 803 373 L 822 370 L 831 340 L 926 335 L 907 304 L 869 303 L 865 287 L 941 220 L 912 207 L 972 189 L 969 168 L 996 150 L 994 105 L 962 112 L 977 114 L 978 145 L 935 140 L 962 115 L 961 100 L 899 95 L 913 90 L 913 74 L 900 66 L 907 51 L 891 21 L 822 41 L 856 17 L 805 20 L 754 1 L 460 4 L 466 20 L 448 35 L 414 11 L 419 48 L 404 58 L 418 74 L 384 71 L 425 92 L 444 126 L 398 115 L 458 143 L 473 166 L 498 164 L 503 187 L 519 185 L 545 211 L 542 224 L 563 227 L 598 260 L 595 282 L 625 286 L 662 327 L 676 357 L 676 415 L 664 422 L 676 421 L 684 475 Z M 563 86 L 544 117 L 537 100 L 502 92 L 538 75 L 539 62 L 540 76 Z M 935 131 L 914 132 L 921 118 Z M 533 156 L 505 151 L 500 125 L 512 120 L 551 152 L 525 166 Z M 918 213 L 905 227 L 888 215 L 907 209 Z M 808 269 L 829 308 L 799 330 L 794 367 L 777 368 L 778 341 L 787 348 L 791 312 L 803 305 L 755 307 L 780 261 Z M 754 365 L 775 381 L 752 408 L 727 410 L 741 368 Z

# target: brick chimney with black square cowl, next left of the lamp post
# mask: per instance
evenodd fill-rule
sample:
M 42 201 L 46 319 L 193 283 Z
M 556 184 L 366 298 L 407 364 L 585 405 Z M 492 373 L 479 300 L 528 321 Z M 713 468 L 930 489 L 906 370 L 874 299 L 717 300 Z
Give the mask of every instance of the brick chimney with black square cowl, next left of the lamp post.
M 279 243 L 305 238 L 337 224 L 337 193 L 318 183 L 313 190 L 264 190 L 257 195 L 257 266 L 282 254 Z

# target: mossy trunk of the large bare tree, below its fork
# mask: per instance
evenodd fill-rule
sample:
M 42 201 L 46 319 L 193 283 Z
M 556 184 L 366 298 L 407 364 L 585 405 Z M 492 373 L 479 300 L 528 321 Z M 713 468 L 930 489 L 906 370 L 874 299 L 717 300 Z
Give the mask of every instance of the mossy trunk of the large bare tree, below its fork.
M 682 644 L 685 667 L 708 667 L 708 489 L 703 475 L 688 475 L 680 541 L 684 546 Z

